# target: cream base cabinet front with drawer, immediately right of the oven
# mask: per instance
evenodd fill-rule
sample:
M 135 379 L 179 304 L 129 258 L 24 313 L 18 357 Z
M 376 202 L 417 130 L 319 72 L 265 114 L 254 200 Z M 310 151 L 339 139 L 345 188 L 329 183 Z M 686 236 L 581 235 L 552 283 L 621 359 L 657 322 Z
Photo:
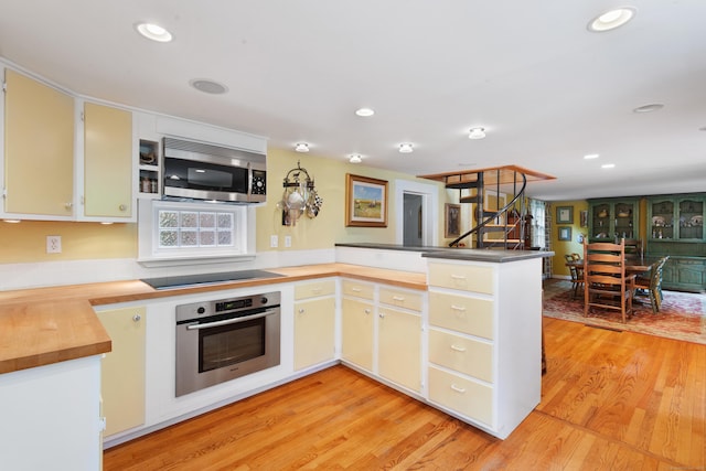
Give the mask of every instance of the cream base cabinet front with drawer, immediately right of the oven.
M 295 370 L 335 356 L 335 281 L 332 279 L 295 287 Z

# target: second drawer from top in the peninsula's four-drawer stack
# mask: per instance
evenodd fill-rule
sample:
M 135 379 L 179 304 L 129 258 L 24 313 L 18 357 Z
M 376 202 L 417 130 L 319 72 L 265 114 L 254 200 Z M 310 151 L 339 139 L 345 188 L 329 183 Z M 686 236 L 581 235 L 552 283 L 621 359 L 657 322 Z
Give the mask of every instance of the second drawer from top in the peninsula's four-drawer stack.
M 430 291 L 429 323 L 493 340 L 493 301 Z

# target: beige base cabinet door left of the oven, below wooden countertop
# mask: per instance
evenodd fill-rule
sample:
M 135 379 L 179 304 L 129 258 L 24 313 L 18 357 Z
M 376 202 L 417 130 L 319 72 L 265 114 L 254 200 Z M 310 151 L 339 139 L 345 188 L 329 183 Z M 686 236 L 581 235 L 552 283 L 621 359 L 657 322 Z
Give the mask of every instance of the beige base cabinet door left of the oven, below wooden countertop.
M 145 422 L 146 308 L 111 309 L 97 315 L 113 342 L 101 366 L 104 435 L 108 437 Z

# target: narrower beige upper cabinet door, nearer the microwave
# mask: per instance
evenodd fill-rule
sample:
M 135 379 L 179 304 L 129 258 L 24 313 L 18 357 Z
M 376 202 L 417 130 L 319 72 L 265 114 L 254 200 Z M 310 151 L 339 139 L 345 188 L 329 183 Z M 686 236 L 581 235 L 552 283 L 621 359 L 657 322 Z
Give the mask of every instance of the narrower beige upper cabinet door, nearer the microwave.
M 84 104 L 84 216 L 130 218 L 132 114 Z

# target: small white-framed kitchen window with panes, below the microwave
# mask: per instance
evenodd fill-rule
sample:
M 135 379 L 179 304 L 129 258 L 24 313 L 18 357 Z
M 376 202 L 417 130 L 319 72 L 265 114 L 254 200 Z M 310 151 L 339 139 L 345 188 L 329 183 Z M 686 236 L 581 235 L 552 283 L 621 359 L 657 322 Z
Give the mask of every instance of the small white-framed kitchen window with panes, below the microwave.
M 255 210 L 247 205 L 145 200 L 138 231 L 138 261 L 148 266 L 255 256 Z

